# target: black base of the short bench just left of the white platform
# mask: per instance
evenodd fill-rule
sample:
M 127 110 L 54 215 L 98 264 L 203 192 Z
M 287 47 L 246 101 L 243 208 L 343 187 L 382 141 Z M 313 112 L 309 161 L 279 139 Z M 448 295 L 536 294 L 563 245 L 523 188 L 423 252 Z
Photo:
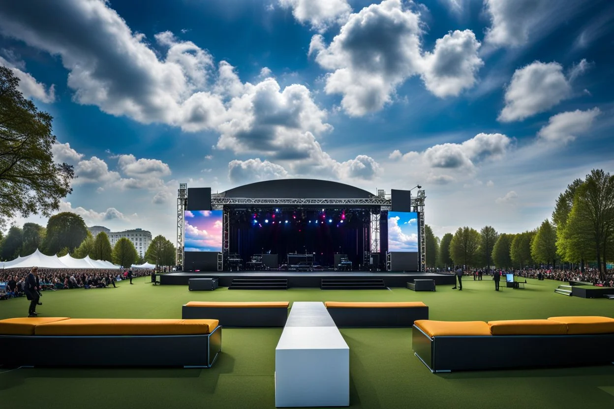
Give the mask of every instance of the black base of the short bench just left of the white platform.
M 288 308 L 280 307 L 191 307 L 184 305 L 182 319 L 219 319 L 224 327 L 284 327 Z

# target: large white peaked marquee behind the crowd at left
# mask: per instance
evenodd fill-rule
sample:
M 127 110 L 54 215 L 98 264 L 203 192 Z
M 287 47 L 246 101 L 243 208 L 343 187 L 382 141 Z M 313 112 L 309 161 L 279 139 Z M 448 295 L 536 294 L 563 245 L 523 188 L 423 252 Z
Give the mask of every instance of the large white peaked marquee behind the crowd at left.
M 82 259 L 73 258 L 70 254 L 66 256 L 45 256 L 38 249 L 34 253 L 25 257 L 18 257 L 12 261 L 2 262 L 0 266 L 4 269 L 29 269 L 34 266 L 39 269 L 119 269 L 110 261 L 92 260 L 90 256 Z

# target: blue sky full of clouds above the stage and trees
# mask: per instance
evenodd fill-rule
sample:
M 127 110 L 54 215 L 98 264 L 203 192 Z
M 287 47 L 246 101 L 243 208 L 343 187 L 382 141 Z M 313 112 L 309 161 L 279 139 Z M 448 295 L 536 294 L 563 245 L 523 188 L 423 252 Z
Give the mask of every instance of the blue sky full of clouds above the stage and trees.
M 180 182 L 291 177 L 422 185 L 440 236 L 533 229 L 612 171 L 613 48 L 605 0 L 0 4 L 0 64 L 79 175 L 61 210 L 173 242 Z

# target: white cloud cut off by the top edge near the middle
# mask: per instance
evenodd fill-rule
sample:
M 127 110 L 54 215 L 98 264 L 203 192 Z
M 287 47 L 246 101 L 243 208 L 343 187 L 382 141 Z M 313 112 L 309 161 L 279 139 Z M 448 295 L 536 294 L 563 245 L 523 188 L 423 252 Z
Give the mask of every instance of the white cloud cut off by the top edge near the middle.
M 279 0 L 279 5 L 292 9 L 292 15 L 299 23 L 309 23 L 319 32 L 348 20 L 352 11 L 347 0 Z

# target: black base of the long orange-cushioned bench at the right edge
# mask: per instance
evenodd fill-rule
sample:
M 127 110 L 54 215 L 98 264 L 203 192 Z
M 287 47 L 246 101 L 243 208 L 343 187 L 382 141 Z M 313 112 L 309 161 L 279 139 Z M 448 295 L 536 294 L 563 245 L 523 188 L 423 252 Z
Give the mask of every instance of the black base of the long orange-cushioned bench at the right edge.
M 608 364 L 613 343 L 614 334 L 430 338 L 412 330 L 414 353 L 431 372 Z

